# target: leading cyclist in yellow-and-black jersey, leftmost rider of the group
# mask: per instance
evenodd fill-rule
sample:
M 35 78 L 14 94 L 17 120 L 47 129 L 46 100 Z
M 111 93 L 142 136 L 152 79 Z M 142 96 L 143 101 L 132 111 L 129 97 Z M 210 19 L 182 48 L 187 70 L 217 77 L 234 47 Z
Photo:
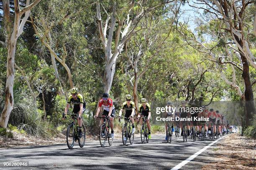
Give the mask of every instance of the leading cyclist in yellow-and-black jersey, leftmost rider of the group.
M 73 113 L 77 114 L 77 122 L 78 122 L 78 126 L 79 126 L 79 138 L 81 138 L 82 136 L 82 114 L 85 110 L 85 102 L 83 100 L 83 96 L 81 94 L 78 93 L 78 88 L 74 87 L 71 90 L 71 95 L 68 98 L 67 101 L 67 106 L 65 107 L 64 110 L 64 114 L 62 119 L 64 120 L 66 118 L 67 115 L 67 110 L 69 110 L 70 104 L 73 103 L 74 107 L 73 107 Z

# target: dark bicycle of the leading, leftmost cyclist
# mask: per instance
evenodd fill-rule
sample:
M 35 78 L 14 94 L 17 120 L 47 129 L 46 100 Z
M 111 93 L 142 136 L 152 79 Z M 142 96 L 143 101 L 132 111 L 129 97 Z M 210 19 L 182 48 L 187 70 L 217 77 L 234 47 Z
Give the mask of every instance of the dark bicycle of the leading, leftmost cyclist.
M 82 135 L 79 137 L 79 127 L 75 120 L 77 120 L 77 114 L 67 114 L 72 116 L 72 122 L 67 127 L 67 146 L 69 149 L 74 147 L 74 143 L 78 140 L 78 144 L 80 148 L 84 147 L 85 143 L 85 127 L 82 124 Z

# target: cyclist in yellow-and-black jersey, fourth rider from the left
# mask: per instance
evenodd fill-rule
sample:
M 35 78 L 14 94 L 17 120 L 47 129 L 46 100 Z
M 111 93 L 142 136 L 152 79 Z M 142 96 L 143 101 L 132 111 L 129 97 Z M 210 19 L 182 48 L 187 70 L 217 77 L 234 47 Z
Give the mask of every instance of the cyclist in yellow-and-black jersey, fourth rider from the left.
M 139 105 L 139 113 L 138 113 L 138 118 L 143 115 L 148 117 L 147 121 L 147 126 L 148 126 L 148 139 L 151 139 L 151 125 L 150 125 L 150 117 L 151 117 L 151 111 L 150 111 L 150 105 L 147 103 L 147 100 L 145 98 L 141 99 L 141 104 Z M 142 118 L 143 118 L 142 117 Z M 141 119 L 141 125 L 142 125 L 142 119 Z

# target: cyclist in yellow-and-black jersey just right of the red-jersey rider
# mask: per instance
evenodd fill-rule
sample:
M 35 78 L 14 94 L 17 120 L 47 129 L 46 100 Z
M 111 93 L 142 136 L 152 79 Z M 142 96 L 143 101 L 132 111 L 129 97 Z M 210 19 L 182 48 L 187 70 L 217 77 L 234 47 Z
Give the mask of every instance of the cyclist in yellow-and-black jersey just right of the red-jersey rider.
M 134 120 L 133 117 L 135 115 L 135 104 L 133 101 L 131 101 L 132 96 L 131 95 L 126 95 L 126 102 L 123 103 L 122 108 L 119 112 L 119 121 L 120 117 L 122 115 L 123 110 L 125 110 L 125 117 L 130 118 L 131 123 L 132 123 L 132 132 L 133 134 L 135 132 L 134 128 Z M 126 140 L 126 137 L 124 137 L 124 140 Z

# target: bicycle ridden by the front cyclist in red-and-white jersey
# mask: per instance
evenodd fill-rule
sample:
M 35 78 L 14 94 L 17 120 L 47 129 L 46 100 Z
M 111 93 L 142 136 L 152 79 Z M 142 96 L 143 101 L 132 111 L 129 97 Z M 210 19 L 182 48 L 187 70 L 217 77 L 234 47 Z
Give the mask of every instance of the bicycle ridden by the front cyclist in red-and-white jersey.
M 98 116 L 97 118 L 103 119 L 103 122 L 100 125 L 100 145 L 104 147 L 108 138 L 108 144 L 111 146 L 113 144 L 113 138 L 111 136 L 111 133 L 109 133 L 110 119 L 108 119 L 108 117 L 101 117 L 101 116 Z

